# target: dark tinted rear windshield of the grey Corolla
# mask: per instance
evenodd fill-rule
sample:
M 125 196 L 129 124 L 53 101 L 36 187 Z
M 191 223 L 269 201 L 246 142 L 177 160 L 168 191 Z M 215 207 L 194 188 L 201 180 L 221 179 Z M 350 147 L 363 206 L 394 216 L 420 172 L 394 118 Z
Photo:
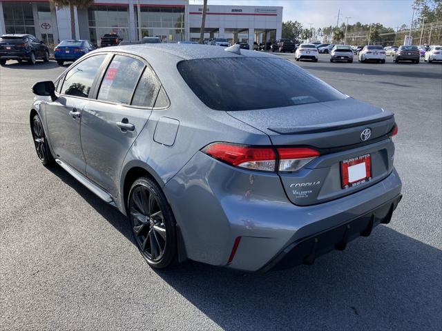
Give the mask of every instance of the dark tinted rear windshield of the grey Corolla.
M 345 95 L 285 59 L 234 57 L 181 61 L 177 68 L 214 110 L 254 110 L 345 99 Z

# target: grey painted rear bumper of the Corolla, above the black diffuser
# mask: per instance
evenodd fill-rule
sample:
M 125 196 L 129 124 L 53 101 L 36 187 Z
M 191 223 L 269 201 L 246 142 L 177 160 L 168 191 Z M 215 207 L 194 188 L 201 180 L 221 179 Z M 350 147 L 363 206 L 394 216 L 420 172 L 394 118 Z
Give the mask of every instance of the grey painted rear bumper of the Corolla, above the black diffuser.
M 256 272 L 292 243 L 376 210 L 398 197 L 401 188 L 393 168 L 382 181 L 345 197 L 294 205 L 277 174 L 232 168 L 198 152 L 166 183 L 164 194 L 189 259 Z M 379 215 L 376 212 L 376 220 Z M 240 244 L 229 263 L 238 237 Z

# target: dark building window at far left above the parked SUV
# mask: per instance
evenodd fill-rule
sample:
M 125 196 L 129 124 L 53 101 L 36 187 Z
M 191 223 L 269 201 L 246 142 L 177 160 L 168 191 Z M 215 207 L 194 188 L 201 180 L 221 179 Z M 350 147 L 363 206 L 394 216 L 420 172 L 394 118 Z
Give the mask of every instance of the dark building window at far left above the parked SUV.
M 32 3 L 3 2 L 3 19 L 6 33 L 28 33 L 35 35 Z

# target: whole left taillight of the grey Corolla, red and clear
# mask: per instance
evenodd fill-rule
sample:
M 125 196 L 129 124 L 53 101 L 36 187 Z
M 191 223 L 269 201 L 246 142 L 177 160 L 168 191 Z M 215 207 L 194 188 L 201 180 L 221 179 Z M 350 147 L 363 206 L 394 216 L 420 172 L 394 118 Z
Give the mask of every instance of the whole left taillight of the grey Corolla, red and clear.
M 320 155 L 312 148 L 269 148 L 211 143 L 202 152 L 230 165 L 269 172 L 294 172 Z

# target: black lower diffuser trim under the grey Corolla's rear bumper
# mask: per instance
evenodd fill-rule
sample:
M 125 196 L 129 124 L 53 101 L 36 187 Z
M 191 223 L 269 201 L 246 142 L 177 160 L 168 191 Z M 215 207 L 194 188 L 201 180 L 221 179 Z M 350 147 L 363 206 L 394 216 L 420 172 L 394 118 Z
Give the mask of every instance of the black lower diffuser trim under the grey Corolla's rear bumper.
M 300 264 L 311 265 L 316 257 L 320 257 L 327 252 L 345 250 L 347 243 L 350 241 L 361 236 L 368 237 L 376 225 L 390 223 L 392 214 L 401 199 L 402 194 L 398 194 L 394 199 L 383 203 L 383 205 L 362 216 L 290 243 L 260 272 L 282 270 Z

